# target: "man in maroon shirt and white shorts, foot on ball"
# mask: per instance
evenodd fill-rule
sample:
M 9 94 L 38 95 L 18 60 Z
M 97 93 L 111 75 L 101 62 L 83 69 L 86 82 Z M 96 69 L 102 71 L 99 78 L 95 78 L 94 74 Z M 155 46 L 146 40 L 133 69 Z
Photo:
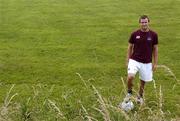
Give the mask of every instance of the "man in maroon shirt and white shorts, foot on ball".
M 150 30 L 149 22 L 148 16 L 142 15 L 139 18 L 140 29 L 133 32 L 129 39 L 126 62 L 128 65 L 128 93 L 125 101 L 129 100 L 132 95 L 133 80 L 136 73 L 139 72 L 140 87 L 137 102 L 143 104 L 144 85 L 146 82 L 152 81 L 153 71 L 157 67 L 158 35 Z

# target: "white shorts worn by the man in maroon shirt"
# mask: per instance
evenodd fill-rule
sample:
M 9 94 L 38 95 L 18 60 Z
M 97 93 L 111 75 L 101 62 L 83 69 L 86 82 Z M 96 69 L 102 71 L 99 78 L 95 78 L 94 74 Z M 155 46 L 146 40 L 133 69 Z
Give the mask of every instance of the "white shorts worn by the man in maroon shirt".
M 139 72 L 139 78 L 145 82 L 152 81 L 153 71 L 152 71 L 152 63 L 141 63 L 137 62 L 133 59 L 129 59 L 128 64 L 128 75 Z

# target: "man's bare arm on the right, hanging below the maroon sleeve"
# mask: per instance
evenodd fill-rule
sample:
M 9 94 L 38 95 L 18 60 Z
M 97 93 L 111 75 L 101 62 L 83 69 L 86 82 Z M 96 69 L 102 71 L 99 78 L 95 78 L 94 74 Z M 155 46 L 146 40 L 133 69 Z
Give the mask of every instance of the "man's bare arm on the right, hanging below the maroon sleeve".
M 158 44 L 153 46 L 153 71 L 156 70 L 157 68 L 157 63 L 158 63 Z

